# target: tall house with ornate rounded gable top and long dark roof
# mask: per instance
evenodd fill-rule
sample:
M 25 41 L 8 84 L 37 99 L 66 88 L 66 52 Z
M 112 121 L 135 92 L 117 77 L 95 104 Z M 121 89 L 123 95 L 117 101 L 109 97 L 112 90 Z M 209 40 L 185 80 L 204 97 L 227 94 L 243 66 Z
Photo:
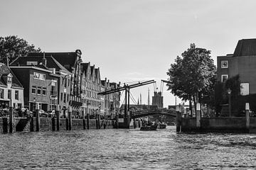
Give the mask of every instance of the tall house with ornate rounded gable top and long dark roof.
M 75 50 L 75 52 L 32 52 L 28 54 L 28 57 L 42 57 L 44 54 L 53 57 L 58 62 L 59 67 L 68 71 L 68 74 L 65 73 L 60 78 L 62 88 L 58 91 L 60 103 L 65 103 L 65 106 L 61 108 L 62 111 L 66 111 L 67 107 L 70 106 L 73 114 L 80 113 L 82 109 L 80 93 L 82 52 L 80 50 Z

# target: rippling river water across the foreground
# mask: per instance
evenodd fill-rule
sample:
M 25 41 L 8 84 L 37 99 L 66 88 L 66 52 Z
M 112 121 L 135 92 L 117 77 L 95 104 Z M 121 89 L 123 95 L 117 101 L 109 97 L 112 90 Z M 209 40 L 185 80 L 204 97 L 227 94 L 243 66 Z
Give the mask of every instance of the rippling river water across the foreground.
M 256 169 L 256 135 L 80 130 L 0 135 L 0 169 Z

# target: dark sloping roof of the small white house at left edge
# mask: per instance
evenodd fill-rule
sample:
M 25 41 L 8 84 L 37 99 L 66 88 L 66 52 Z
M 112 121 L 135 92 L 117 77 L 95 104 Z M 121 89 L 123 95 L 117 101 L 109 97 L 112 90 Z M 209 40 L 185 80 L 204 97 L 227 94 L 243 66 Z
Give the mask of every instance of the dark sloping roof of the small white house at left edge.
M 11 71 L 11 69 L 9 69 L 9 67 L 6 66 L 6 64 L 0 63 L 0 84 L 1 85 L 7 85 L 6 81 L 3 79 L 4 77 L 6 77 L 8 74 L 12 74 L 12 86 L 14 87 L 23 87 L 20 83 L 20 81 L 18 81 L 17 77 L 15 76 L 14 72 Z

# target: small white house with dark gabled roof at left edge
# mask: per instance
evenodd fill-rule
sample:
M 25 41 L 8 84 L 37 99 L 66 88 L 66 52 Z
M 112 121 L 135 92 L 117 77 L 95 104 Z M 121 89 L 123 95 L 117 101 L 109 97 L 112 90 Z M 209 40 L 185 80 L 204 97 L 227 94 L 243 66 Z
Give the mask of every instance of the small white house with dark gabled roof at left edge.
M 14 72 L 0 63 L 0 109 L 9 108 L 10 100 L 14 108 L 23 108 L 23 86 Z

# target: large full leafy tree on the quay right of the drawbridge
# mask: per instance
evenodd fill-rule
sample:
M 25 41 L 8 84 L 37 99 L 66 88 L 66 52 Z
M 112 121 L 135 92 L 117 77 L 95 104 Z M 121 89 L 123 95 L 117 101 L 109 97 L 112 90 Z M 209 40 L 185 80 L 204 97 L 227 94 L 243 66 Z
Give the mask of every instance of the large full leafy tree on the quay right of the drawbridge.
M 167 72 L 168 90 L 183 101 L 193 101 L 195 109 L 198 102 L 213 105 L 216 67 L 210 50 L 191 44 L 181 56 Z

